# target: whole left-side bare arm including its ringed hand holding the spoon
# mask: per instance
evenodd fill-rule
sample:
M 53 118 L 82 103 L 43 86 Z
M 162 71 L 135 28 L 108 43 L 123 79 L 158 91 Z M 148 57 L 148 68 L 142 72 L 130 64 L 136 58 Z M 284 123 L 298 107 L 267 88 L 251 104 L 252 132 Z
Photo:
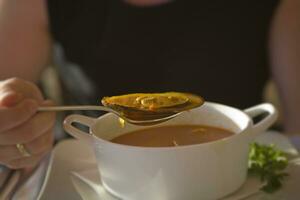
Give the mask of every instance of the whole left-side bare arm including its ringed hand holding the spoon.
M 51 52 L 45 3 L 0 0 L 0 165 L 12 169 L 36 166 L 53 144 L 55 113 L 37 112 L 53 103 L 33 83 Z

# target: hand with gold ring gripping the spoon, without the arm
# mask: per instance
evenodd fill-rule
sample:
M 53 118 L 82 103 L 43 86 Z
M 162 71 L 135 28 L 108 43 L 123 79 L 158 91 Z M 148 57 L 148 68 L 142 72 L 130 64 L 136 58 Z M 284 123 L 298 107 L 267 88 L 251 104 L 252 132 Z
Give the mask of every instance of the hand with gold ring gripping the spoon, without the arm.
M 0 81 L 0 164 L 12 169 L 33 167 L 53 145 L 53 112 L 37 112 L 45 101 L 38 87 L 12 78 Z M 21 144 L 30 156 L 16 147 Z

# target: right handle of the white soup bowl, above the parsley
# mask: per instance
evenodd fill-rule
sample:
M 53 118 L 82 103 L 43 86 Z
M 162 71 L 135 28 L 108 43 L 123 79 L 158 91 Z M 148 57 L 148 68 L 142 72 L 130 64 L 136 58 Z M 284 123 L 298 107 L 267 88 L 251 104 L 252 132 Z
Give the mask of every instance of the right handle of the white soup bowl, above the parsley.
M 267 115 L 259 122 L 254 124 L 253 131 L 254 135 L 266 131 L 277 119 L 278 112 L 275 107 L 270 103 L 263 103 L 257 106 L 253 106 L 244 110 L 244 112 L 252 119 L 261 114 L 267 113 Z

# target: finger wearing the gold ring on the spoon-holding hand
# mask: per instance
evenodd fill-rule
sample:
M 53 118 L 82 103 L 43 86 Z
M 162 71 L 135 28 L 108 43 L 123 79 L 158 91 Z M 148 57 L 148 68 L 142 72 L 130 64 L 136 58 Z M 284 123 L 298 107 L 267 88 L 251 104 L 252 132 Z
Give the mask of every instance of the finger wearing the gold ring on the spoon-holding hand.
M 40 155 L 51 150 L 53 141 L 54 134 L 51 129 L 37 139 L 23 145 L 31 155 Z M 0 146 L 0 163 L 5 164 L 12 160 L 22 158 L 23 156 L 17 149 L 16 145 Z

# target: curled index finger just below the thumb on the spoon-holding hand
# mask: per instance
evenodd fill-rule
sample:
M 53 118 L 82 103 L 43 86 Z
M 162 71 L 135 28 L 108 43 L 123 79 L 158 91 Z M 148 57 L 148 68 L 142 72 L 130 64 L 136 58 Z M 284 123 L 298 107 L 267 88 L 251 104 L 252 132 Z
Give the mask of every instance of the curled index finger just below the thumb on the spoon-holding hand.
M 30 99 L 25 99 L 14 107 L 0 107 L 0 134 L 29 120 L 37 108 L 37 102 Z

